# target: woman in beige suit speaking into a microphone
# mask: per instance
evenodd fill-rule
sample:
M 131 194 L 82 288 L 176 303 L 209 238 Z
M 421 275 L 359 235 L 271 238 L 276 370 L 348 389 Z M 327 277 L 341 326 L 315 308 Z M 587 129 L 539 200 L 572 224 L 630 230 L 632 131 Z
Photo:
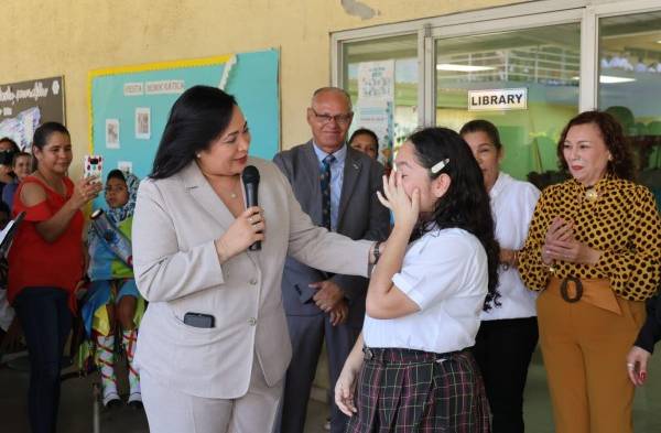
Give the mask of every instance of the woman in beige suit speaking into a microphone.
M 133 221 L 138 289 L 150 301 L 138 365 L 153 433 L 270 432 L 291 347 L 281 301 L 291 255 L 367 275 L 372 242 L 313 226 L 271 162 L 248 156 L 234 97 L 196 86 L 174 104 Z M 261 175 L 246 208 L 241 173 Z M 261 241 L 261 250 L 248 247 Z

